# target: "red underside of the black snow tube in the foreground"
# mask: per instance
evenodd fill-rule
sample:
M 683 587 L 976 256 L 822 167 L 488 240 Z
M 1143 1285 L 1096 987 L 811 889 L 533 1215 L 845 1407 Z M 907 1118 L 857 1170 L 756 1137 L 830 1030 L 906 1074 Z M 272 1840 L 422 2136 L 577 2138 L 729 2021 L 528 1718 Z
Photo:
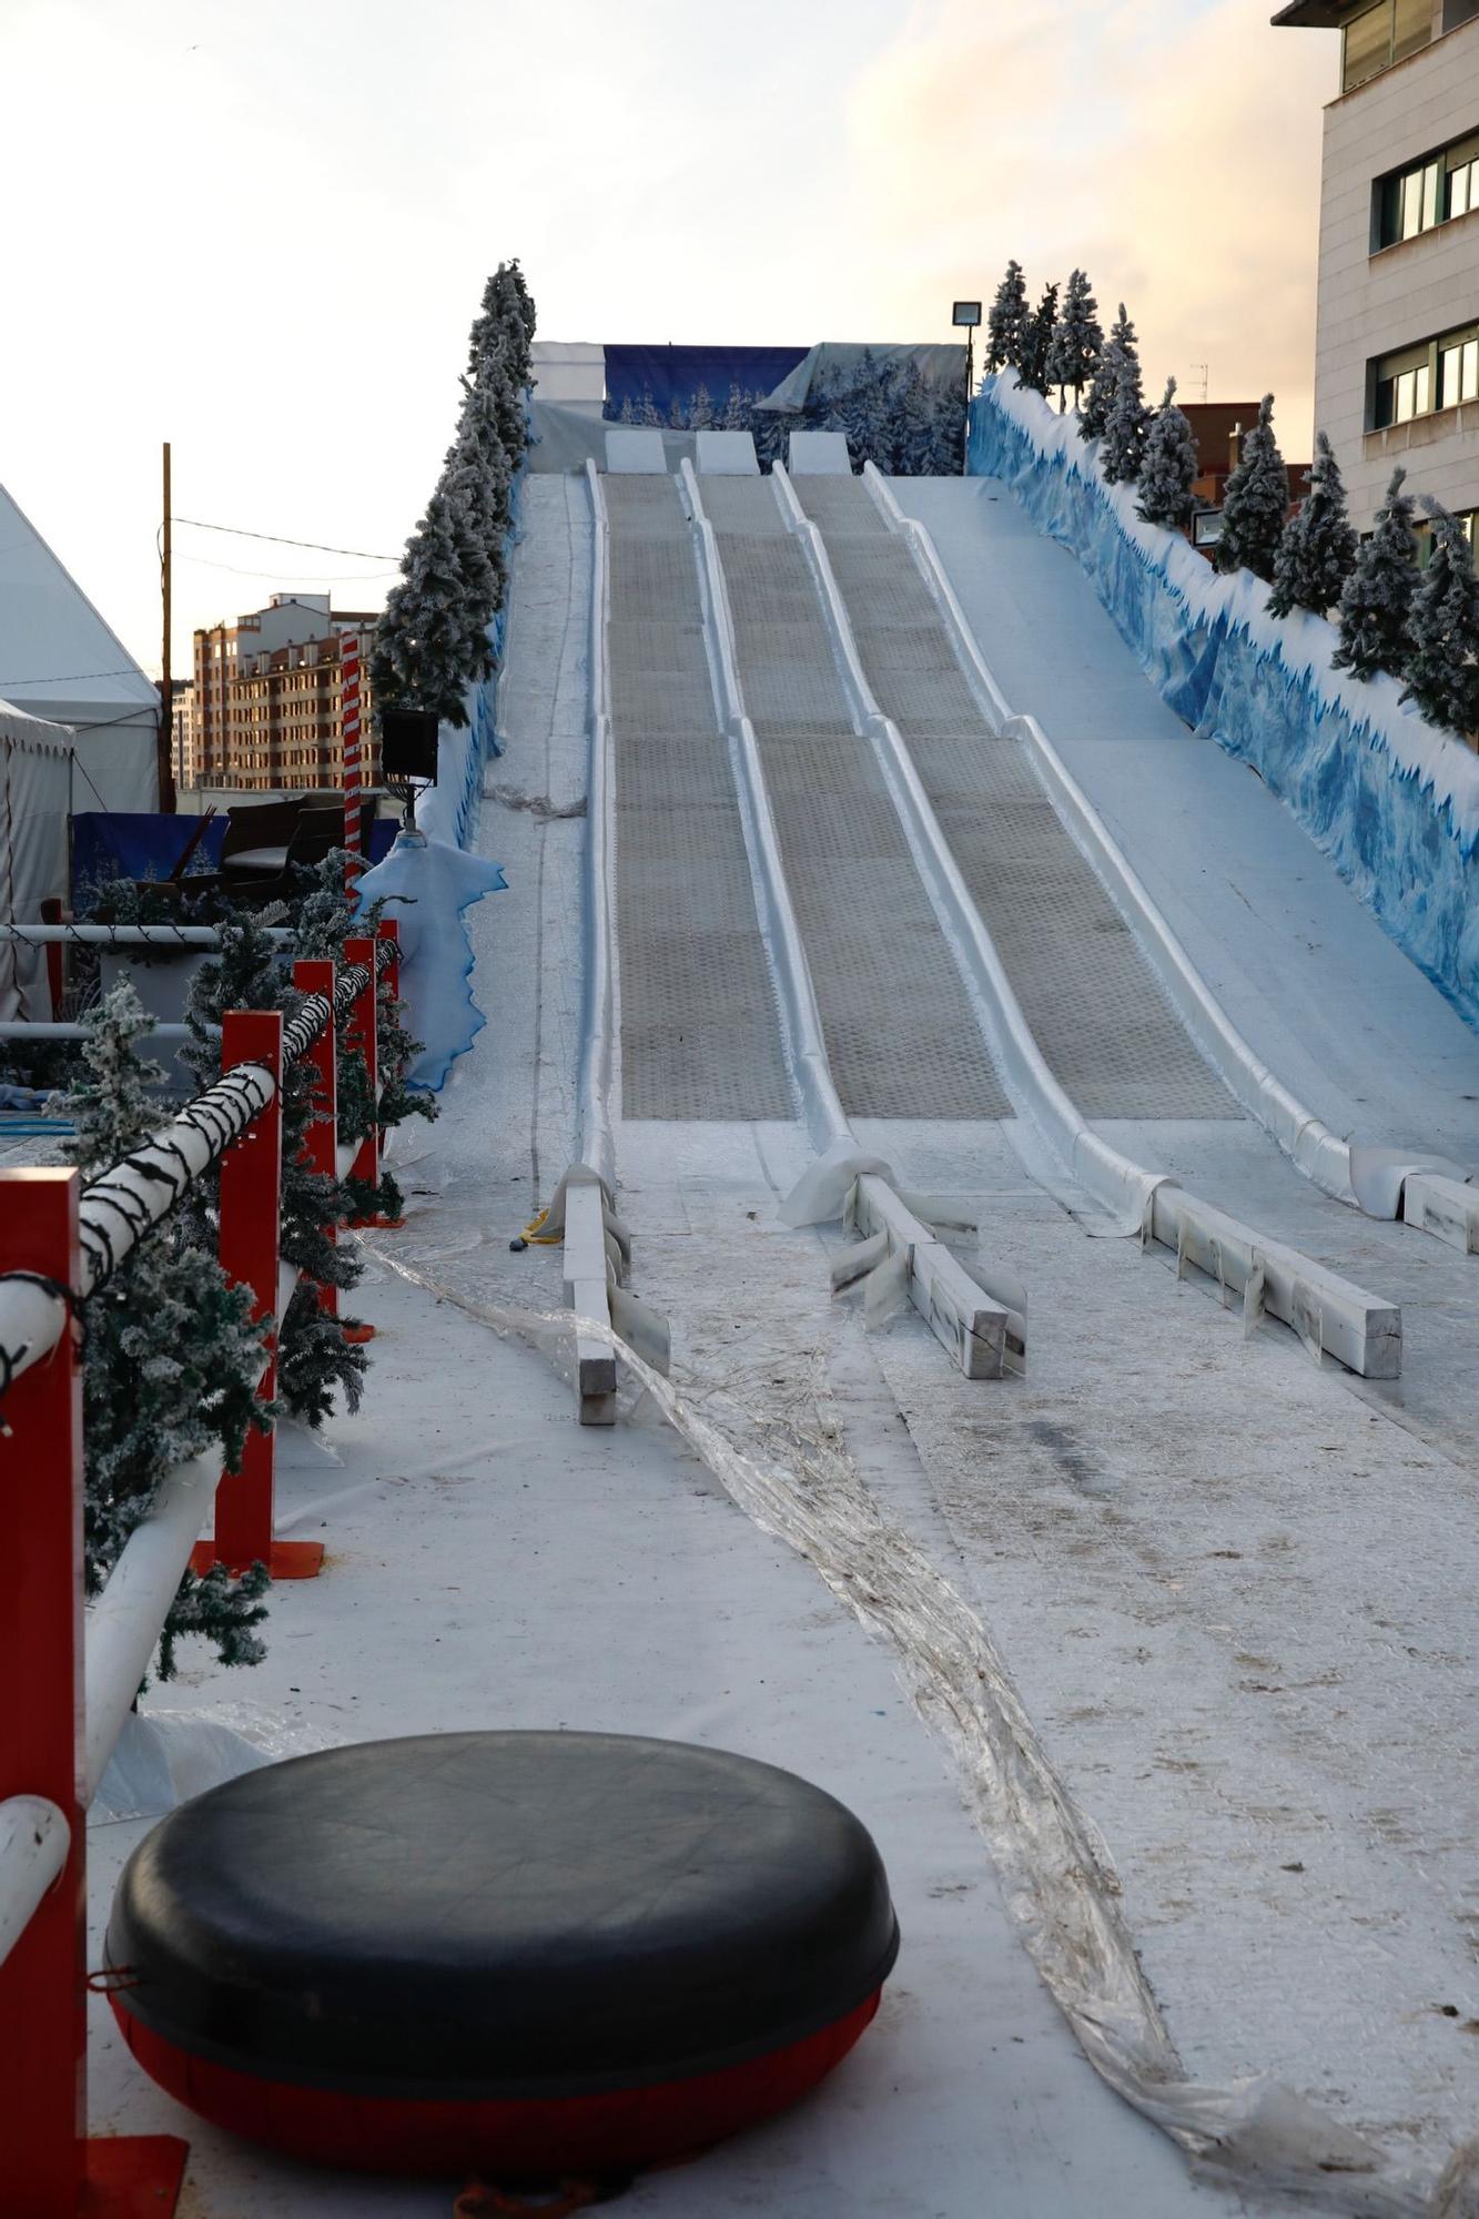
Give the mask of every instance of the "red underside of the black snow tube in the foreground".
M 879 1990 L 882 1993 L 882 1990 Z M 788 2110 L 826 2079 L 879 2004 L 866 2004 L 768 2057 L 722 2073 L 529 2101 L 431 2104 L 258 2079 L 191 2057 L 113 1999 L 122 2037 L 153 2081 L 231 2135 L 309 2164 L 358 2172 L 489 2172 L 500 2181 L 624 2175 L 680 2164 Z

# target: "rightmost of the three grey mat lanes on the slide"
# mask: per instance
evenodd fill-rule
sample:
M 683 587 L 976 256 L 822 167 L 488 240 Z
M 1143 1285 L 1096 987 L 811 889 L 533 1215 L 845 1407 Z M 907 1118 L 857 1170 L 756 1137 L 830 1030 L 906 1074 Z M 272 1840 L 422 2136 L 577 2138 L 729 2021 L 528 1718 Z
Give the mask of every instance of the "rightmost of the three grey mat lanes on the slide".
M 904 732 L 1050 1070 L 1090 1118 L 1237 1118 L 1019 741 L 993 739 L 915 559 L 862 479 L 795 479 L 857 655 Z

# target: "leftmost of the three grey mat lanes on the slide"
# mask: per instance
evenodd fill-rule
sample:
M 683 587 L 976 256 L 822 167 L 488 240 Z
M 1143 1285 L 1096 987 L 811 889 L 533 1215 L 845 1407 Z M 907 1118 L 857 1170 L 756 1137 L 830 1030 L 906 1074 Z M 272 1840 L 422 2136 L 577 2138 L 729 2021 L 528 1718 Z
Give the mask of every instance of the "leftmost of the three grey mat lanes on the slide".
M 622 1114 L 795 1114 L 671 477 L 606 477 Z

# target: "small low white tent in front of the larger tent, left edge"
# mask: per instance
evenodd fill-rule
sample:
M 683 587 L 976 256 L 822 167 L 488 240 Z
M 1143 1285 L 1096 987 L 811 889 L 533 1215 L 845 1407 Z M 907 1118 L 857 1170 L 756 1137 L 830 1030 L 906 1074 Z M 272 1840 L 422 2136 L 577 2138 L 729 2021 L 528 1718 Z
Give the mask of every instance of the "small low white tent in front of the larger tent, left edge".
M 67 894 L 71 732 L 0 701 L 0 923 L 36 925 L 47 894 Z M 0 1016 L 47 1019 L 40 948 L 0 941 Z

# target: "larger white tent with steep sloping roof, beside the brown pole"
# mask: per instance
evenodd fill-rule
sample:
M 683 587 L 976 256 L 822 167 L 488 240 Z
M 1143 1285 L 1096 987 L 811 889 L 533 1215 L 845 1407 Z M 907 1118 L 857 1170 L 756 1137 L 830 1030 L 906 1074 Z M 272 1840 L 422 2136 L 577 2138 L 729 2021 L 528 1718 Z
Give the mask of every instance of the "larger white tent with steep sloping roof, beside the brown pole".
M 0 699 L 73 728 L 73 810 L 158 810 L 158 688 L 4 486 Z

